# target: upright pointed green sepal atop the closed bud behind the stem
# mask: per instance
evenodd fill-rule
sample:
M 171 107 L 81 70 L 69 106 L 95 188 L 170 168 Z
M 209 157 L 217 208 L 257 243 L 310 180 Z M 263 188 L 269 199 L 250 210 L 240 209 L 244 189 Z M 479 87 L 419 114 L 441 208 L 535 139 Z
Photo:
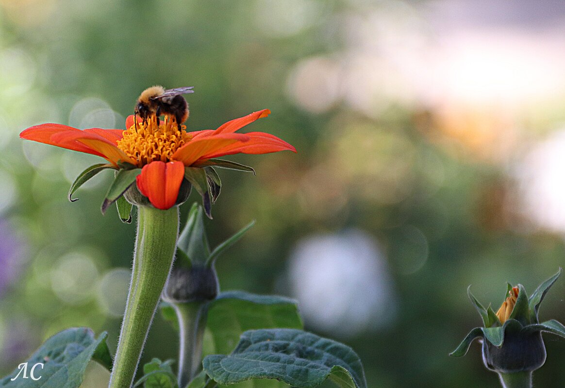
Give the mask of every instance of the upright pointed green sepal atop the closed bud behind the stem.
M 208 262 L 208 258 L 210 257 L 210 245 L 206 237 L 202 213 L 202 206 L 194 202 L 188 213 L 186 225 L 177 241 L 177 263 L 175 263 L 175 266 L 180 264 L 185 267 L 190 267 L 192 264 L 203 265 Z M 179 256 L 178 251 L 184 253 L 184 256 Z M 186 258 L 188 258 L 188 262 L 186 262 Z

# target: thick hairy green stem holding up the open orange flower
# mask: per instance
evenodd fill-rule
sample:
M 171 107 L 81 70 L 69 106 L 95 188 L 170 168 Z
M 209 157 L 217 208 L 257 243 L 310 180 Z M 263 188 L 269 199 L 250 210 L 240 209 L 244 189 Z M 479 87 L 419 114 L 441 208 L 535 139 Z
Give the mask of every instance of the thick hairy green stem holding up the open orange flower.
M 109 388 L 130 388 L 167 276 L 179 234 L 179 209 L 138 206 L 132 280 Z

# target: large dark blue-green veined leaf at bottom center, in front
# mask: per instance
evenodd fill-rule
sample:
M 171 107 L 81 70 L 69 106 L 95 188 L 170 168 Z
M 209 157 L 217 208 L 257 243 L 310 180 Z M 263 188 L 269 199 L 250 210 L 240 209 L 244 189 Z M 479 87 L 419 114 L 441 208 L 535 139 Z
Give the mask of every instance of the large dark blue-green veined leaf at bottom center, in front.
M 328 378 L 341 388 L 366 388 L 359 356 L 342 343 L 294 329 L 250 330 L 231 355 L 210 355 L 204 370 L 220 384 L 275 378 L 312 388 Z

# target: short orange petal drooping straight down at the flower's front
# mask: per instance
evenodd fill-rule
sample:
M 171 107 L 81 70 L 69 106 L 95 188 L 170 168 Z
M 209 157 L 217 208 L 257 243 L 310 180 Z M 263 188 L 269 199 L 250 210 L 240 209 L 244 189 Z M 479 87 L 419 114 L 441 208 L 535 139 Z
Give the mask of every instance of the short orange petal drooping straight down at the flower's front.
M 145 165 L 137 175 L 137 188 L 155 208 L 167 210 L 175 206 L 184 178 L 182 162 L 155 161 Z

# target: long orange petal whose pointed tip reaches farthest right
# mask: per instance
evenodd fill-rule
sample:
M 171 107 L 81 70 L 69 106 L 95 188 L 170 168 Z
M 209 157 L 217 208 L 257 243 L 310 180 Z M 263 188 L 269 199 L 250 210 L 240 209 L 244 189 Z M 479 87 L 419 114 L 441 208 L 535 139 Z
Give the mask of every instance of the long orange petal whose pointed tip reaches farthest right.
M 216 148 L 211 152 L 203 154 L 200 159 L 211 159 L 215 157 L 233 155 L 235 153 L 251 153 L 259 155 L 262 153 L 279 152 L 279 151 L 292 151 L 296 152 L 289 143 L 264 132 L 249 132 L 245 135 L 249 136 L 249 140 L 245 143 L 233 143 L 225 145 L 222 148 Z

